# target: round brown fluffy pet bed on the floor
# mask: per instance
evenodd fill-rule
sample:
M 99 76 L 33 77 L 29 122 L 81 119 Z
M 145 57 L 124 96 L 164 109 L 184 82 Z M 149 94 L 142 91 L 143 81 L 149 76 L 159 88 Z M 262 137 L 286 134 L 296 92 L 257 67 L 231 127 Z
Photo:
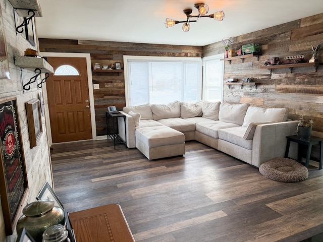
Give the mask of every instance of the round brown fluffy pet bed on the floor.
M 289 158 L 277 157 L 259 166 L 259 172 L 264 177 L 272 180 L 294 183 L 305 180 L 308 177 L 308 169 Z

